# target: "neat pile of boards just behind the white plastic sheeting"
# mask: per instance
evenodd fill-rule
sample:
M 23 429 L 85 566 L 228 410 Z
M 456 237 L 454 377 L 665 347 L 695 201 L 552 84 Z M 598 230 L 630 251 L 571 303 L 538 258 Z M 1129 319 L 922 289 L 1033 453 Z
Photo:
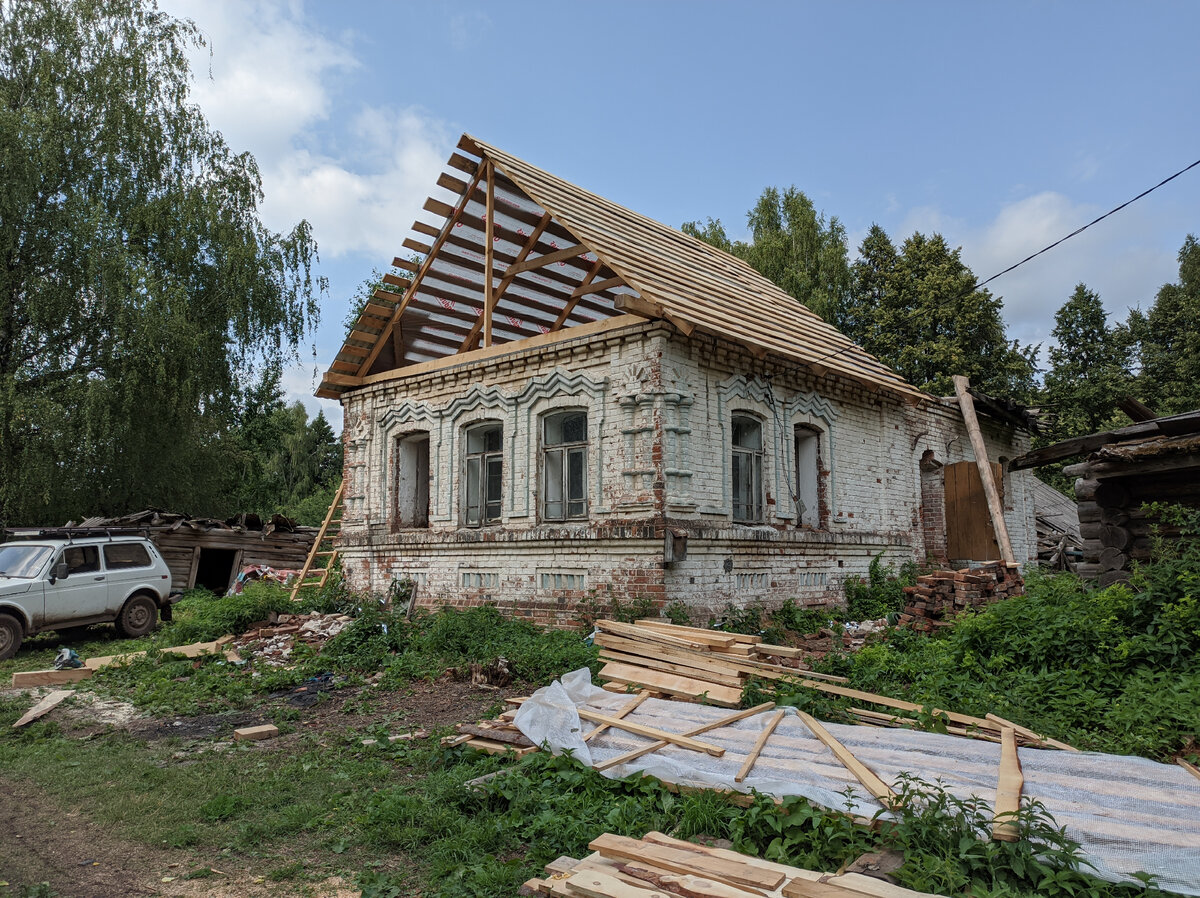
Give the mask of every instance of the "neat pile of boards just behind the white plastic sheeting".
M 638 687 L 654 695 L 703 700 L 733 708 L 751 677 L 805 676 L 845 682 L 799 666 L 804 649 L 772 646 L 761 636 L 678 627 L 666 621 L 598 621 L 600 680 L 616 690 Z

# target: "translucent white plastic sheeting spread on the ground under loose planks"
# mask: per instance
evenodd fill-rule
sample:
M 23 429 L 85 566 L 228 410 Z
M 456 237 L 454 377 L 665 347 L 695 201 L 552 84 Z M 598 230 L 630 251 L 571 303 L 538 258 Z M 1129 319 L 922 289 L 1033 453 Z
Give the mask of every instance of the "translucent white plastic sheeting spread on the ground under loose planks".
M 589 766 L 640 748 L 650 740 L 616 728 L 584 743 L 592 729 L 577 707 L 612 714 L 629 695 L 592 686 L 577 670 L 539 689 L 516 714 L 516 726 L 554 754 L 574 753 Z M 791 708 L 787 711 L 792 712 Z M 625 719 L 668 732 L 685 732 L 728 717 L 732 711 L 679 701 L 648 699 Z M 872 816 L 878 802 L 854 779 L 804 723 L 788 713 L 767 741 L 750 776 L 734 776 L 773 712 L 696 736 L 725 749 L 721 758 L 668 746 L 605 776 L 647 773 L 667 783 L 704 789 L 760 791 L 775 797 L 800 795 L 834 810 Z M 995 802 L 1000 746 L 961 736 L 904 729 L 826 724 L 833 736 L 886 783 L 901 773 L 940 783 L 959 798 Z M 1022 798 L 1037 798 L 1067 834 L 1079 842 L 1090 873 L 1126 881 L 1148 873 L 1160 888 L 1200 896 L 1200 780 L 1181 767 L 1142 758 L 1090 752 L 1019 749 Z

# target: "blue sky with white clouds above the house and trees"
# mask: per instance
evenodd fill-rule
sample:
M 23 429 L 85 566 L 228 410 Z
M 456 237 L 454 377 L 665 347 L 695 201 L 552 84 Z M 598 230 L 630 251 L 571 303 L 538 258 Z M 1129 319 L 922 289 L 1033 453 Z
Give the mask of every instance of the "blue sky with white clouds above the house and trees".
M 743 235 L 767 185 L 995 274 L 1200 158 L 1195 2 L 214 2 L 194 97 L 313 223 L 330 282 L 295 399 L 470 132 L 678 227 Z M 427 216 L 426 216 L 427 217 Z M 991 287 L 1046 342 L 1084 281 L 1147 306 L 1200 232 L 1200 168 Z M 316 349 L 313 358 L 312 349 Z M 335 426 L 336 403 L 322 402 Z

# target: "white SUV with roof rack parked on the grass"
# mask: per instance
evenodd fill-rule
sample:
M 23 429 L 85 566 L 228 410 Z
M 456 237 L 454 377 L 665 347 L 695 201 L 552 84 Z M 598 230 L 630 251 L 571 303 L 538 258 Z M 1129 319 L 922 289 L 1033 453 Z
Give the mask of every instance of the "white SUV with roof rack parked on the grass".
M 144 537 L 95 531 L 8 531 L 0 545 L 0 660 L 25 636 L 94 623 L 144 636 L 170 619 L 170 571 Z

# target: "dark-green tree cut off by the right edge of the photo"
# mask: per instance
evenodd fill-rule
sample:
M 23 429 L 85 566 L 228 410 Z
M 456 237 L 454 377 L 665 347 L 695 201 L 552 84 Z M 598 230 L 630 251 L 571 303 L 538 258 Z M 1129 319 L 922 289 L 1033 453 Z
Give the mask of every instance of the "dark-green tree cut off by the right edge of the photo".
M 1194 234 L 1178 259 L 1178 283 L 1163 285 L 1148 312 L 1129 313 L 1139 399 L 1159 414 L 1200 408 L 1200 244 Z

